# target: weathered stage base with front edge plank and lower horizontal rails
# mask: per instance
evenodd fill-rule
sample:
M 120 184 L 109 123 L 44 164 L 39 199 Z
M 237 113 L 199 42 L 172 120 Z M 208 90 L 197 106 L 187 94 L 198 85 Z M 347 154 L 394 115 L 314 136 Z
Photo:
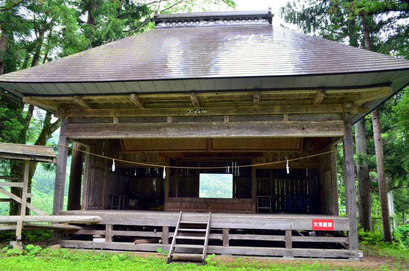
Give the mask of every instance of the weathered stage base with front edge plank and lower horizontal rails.
M 77 210 L 63 211 L 60 215 L 75 216 L 100 216 L 101 221 L 95 225 L 98 229 L 85 229 L 78 231 L 65 231 L 61 233 L 74 234 L 72 237 L 63 238 L 59 241 L 63 247 L 81 248 L 81 249 L 104 249 L 104 250 L 122 250 L 122 251 L 143 251 L 155 252 L 161 247 L 162 250 L 169 250 L 170 245 L 164 243 L 141 243 L 134 244 L 133 237 L 142 238 L 162 238 L 171 241 L 174 228 L 177 224 L 180 212 L 164 211 L 141 211 L 141 210 Z M 184 212 L 182 219 L 184 221 L 207 223 L 209 213 Z M 246 256 L 274 256 L 274 257 L 311 257 L 311 258 L 360 258 L 363 256 L 361 251 L 349 251 L 345 247 L 348 237 L 343 236 L 322 236 L 310 237 L 307 232 L 312 230 L 312 219 L 332 219 L 334 231 L 348 231 L 348 218 L 330 215 L 314 214 L 286 214 L 286 213 L 264 213 L 264 214 L 234 214 L 234 213 L 212 213 L 211 233 L 209 239 L 212 243 L 208 245 L 208 254 L 222 255 L 246 255 Z M 105 235 L 110 227 L 109 233 L 114 237 L 106 242 L 94 242 L 92 239 L 77 238 L 78 235 Z M 114 225 L 113 229 L 109 225 Z M 121 230 L 120 225 L 129 226 L 147 226 L 152 231 L 140 231 L 142 227 L 136 227 L 140 230 L 131 231 Z M 150 228 L 149 228 L 150 226 Z M 88 225 L 87 227 L 92 227 Z M 157 229 L 153 231 L 152 228 Z M 159 227 L 159 228 L 158 228 Z M 161 231 L 161 228 L 162 232 Z M 164 233 L 167 238 L 164 238 Z M 222 229 L 230 229 L 224 236 Z M 257 231 L 261 230 L 261 231 Z M 295 230 L 299 230 L 297 232 Z M 223 232 L 223 233 L 222 233 Z M 246 234 L 253 232 L 253 234 Z M 256 232 L 256 234 L 254 234 Z M 300 234 L 301 232 L 304 235 Z M 289 233 L 289 236 L 287 235 Z M 335 233 L 333 231 L 329 233 Z M 292 235 L 292 236 L 291 236 Z M 117 238 L 115 238 L 117 236 Z M 122 236 L 122 237 L 121 237 Z M 74 238 L 74 239 L 73 239 Z M 122 238 L 122 239 L 121 239 Z M 127 239 L 128 238 L 128 239 Z M 288 239 L 289 238 L 289 239 Z M 127 240 L 127 241 L 126 241 Z M 231 244 L 229 245 L 229 240 Z M 225 242 L 226 241 L 226 242 Z M 295 246 L 286 248 L 287 242 L 294 243 Z M 303 245 L 300 245 L 303 242 Z M 225 243 L 227 245 L 225 245 Z M 308 245 L 314 244 L 314 245 Z M 320 245 L 322 243 L 323 245 Z M 218 245 L 217 245 L 218 244 Z M 222 245 L 223 244 L 223 245 Z M 330 245 L 334 244 L 334 245 Z M 340 245 L 344 244 L 344 245 Z M 244 246 L 243 246 L 244 245 Z M 297 247 L 298 246 L 298 247 Z M 307 248 L 304 248 L 307 247 Z M 317 249 L 317 247 L 320 247 Z M 338 247 L 338 249 L 334 249 Z M 183 251 L 178 247 L 176 252 L 193 253 L 192 250 Z

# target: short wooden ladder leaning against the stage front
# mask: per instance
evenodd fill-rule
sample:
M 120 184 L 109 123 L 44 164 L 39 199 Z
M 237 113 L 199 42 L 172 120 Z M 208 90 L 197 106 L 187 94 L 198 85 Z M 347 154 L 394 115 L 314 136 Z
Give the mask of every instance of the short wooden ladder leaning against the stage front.
M 209 241 L 209 233 L 210 233 L 210 216 L 212 215 L 209 212 L 209 219 L 207 222 L 207 227 L 205 229 L 191 229 L 191 228 L 180 228 L 180 224 L 206 224 L 206 222 L 199 222 L 199 221 L 181 221 L 183 212 L 180 212 L 179 219 L 177 220 L 175 233 L 173 235 L 172 243 L 169 249 L 168 255 L 168 263 L 172 261 L 173 256 L 184 256 L 184 257 L 201 257 L 202 264 L 206 263 L 206 253 L 208 250 L 208 241 Z M 179 236 L 179 232 L 196 232 L 200 233 L 206 232 L 206 235 L 203 236 Z M 204 243 L 202 245 L 195 245 L 195 244 L 176 244 L 176 239 L 184 239 L 184 240 L 203 240 Z M 175 247 L 186 247 L 187 249 L 203 249 L 202 254 L 192 254 L 192 253 L 175 253 Z

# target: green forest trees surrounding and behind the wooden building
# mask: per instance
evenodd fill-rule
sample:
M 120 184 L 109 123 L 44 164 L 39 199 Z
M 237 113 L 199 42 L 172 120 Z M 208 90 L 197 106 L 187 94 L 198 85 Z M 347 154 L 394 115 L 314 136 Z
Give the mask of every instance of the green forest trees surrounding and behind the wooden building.
M 231 0 L 0 0 L 0 75 L 148 31 L 154 27 L 150 18 L 156 10 L 175 13 L 235 8 L 236 3 Z M 288 2 L 276 16 L 282 18 L 282 27 L 409 59 L 407 0 L 300 0 Z M 393 218 L 397 225 L 402 225 L 409 210 L 409 90 L 403 89 L 382 104 L 379 116 L 387 187 L 395 197 Z M 355 155 L 355 164 L 368 163 L 371 215 L 374 225 L 379 227 L 381 214 L 371 115 L 365 120 L 368 154 Z M 0 142 L 55 147 L 58 128 L 59 121 L 49 112 L 23 104 L 19 98 L 0 90 Z M 342 151 L 337 152 L 340 215 L 345 212 L 342 155 Z M 54 170 L 50 164 L 33 163 L 30 167 L 32 203 L 49 213 Z M 20 171 L 19 163 L 0 162 L 0 175 L 20 175 Z M 70 167 L 65 196 L 69 174 Z M 356 178 L 356 191 L 358 187 Z M 0 214 L 15 210 L 16 205 L 0 202 Z

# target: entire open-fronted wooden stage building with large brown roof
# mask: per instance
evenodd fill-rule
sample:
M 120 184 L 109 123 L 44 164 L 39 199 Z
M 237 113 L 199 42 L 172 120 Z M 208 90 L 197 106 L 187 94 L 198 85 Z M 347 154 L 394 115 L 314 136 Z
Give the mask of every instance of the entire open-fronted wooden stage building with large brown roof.
M 0 76 L 5 91 L 61 118 L 53 215 L 101 217 L 55 240 L 161 247 L 170 259 L 362 257 L 352 125 L 409 83 L 409 61 L 275 27 L 272 17 L 156 14 L 153 30 Z M 69 141 L 85 146 L 82 202 L 63 211 Z M 232 196 L 201 197 L 202 174 L 231 176 Z

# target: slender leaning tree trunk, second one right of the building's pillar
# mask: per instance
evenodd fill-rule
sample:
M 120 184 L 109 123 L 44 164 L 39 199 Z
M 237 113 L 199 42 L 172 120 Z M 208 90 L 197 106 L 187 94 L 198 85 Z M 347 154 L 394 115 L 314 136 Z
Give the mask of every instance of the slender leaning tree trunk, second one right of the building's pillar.
M 379 201 L 382 217 L 383 241 L 392 243 L 391 222 L 388 210 L 387 182 L 385 178 L 382 138 L 380 134 L 379 109 L 372 111 L 372 124 L 374 128 L 376 167 L 378 172 Z

